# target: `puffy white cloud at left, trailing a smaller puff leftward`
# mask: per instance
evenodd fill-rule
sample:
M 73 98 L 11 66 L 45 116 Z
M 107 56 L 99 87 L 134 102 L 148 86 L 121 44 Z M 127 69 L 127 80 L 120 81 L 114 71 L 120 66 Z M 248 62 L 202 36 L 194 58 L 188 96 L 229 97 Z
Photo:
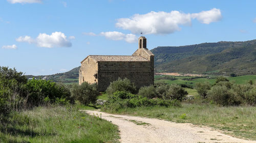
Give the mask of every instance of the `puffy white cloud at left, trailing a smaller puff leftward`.
M 72 43 L 67 39 L 65 34 L 61 32 L 54 32 L 51 35 L 46 33 L 40 33 L 36 39 L 32 39 L 30 36 L 19 37 L 17 42 L 35 43 L 38 47 L 71 47 Z

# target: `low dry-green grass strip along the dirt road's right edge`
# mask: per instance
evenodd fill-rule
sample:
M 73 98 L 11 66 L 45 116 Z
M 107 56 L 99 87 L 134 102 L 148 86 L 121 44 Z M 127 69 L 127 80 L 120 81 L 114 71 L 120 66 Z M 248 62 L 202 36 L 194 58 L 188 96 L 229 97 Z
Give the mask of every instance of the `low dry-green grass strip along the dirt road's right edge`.
M 256 139 L 256 107 L 183 103 L 182 107 L 136 107 L 115 113 L 206 125 L 239 138 Z

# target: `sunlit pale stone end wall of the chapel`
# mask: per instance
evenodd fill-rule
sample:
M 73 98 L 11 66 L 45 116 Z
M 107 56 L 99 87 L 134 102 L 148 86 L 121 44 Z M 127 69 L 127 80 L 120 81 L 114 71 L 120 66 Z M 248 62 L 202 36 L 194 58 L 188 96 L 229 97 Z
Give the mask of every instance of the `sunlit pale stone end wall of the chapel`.
M 98 63 L 91 58 L 84 60 L 79 70 L 79 84 L 87 81 L 88 83 L 95 83 L 97 79 L 95 74 L 98 73 Z

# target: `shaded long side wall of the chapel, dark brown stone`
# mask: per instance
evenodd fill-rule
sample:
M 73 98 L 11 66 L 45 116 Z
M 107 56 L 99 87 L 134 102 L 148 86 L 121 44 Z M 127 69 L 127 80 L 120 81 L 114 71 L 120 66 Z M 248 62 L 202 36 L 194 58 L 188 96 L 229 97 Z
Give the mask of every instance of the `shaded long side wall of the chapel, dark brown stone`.
M 154 61 L 153 61 L 154 63 Z M 154 65 L 153 65 L 154 66 Z M 110 82 L 128 78 L 137 88 L 154 84 L 152 62 L 98 62 L 98 90 L 105 91 Z

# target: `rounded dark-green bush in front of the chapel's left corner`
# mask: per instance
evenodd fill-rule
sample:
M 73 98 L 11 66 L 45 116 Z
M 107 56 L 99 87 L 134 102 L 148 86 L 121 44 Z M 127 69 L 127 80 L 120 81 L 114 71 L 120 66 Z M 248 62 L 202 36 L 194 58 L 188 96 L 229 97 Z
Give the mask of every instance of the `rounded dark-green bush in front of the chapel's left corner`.
M 89 84 L 88 82 L 83 82 L 81 85 L 74 84 L 71 93 L 76 100 L 84 105 L 94 104 L 99 95 L 97 84 Z

